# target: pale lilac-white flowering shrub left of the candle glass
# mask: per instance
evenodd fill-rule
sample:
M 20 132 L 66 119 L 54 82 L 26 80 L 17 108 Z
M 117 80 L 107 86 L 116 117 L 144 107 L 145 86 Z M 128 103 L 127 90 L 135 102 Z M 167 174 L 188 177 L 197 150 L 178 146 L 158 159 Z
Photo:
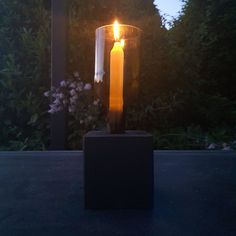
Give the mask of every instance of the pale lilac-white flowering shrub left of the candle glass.
M 83 135 L 100 125 L 100 101 L 94 100 L 92 85 L 84 83 L 78 72 L 73 77 L 61 81 L 60 86 L 46 91 L 44 96 L 51 99 L 48 113 L 64 111 L 67 114 L 68 148 L 80 148 Z

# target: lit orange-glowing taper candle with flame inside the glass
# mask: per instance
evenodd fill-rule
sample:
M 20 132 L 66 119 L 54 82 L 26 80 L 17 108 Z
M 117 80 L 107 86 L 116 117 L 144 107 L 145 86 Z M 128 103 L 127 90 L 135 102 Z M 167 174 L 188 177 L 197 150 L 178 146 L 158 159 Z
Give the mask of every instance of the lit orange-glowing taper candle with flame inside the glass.
M 113 28 L 115 43 L 110 52 L 109 119 L 111 123 L 119 123 L 123 112 L 124 40 L 120 40 L 117 21 Z

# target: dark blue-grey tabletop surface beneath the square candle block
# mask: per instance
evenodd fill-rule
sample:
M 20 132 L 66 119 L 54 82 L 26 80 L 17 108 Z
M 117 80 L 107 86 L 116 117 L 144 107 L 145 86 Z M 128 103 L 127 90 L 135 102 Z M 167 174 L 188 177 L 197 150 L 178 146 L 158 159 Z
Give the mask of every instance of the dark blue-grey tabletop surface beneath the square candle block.
M 85 210 L 82 152 L 0 153 L 0 236 L 236 235 L 236 152 L 155 152 L 153 210 Z

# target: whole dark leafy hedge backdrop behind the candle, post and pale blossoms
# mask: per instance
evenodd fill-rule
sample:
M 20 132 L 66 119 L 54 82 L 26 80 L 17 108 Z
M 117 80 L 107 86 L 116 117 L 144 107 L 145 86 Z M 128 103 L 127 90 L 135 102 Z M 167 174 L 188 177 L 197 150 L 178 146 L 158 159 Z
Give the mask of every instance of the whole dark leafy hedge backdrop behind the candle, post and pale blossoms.
M 68 81 L 79 74 L 93 84 L 95 29 L 116 16 L 143 29 L 140 94 L 127 128 L 151 132 L 158 149 L 235 148 L 234 0 L 186 0 L 169 30 L 152 0 L 67 2 Z M 50 8 L 48 0 L 0 0 L 0 150 L 49 148 Z M 76 116 L 68 112 L 68 149 L 102 124 L 87 95 Z

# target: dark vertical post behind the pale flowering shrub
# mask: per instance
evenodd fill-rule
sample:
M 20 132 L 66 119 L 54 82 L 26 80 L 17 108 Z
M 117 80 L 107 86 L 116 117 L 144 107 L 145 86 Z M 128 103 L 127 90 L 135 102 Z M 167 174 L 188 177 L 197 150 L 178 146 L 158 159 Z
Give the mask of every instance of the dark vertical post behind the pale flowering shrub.
M 66 79 L 66 0 L 52 0 L 51 86 L 58 87 Z M 65 113 L 51 115 L 52 150 L 65 149 Z

